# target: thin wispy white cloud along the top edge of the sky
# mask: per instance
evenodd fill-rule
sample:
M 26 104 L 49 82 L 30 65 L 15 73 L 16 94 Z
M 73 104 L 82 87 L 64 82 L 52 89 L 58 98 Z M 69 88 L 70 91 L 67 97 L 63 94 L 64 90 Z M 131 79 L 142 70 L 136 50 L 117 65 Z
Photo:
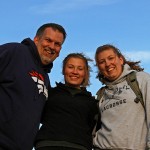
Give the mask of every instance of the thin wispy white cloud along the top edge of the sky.
M 40 14 L 52 14 L 70 10 L 84 9 L 95 5 L 109 5 L 119 0 L 53 0 L 45 4 L 30 7 L 30 11 Z

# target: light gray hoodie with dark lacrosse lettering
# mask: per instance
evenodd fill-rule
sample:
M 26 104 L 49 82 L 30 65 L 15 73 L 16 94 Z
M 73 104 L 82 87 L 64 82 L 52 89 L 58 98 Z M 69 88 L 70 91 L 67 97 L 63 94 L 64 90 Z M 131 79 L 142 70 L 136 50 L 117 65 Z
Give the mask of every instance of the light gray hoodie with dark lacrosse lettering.
M 150 148 L 150 75 L 137 72 L 139 88 L 143 95 L 142 104 L 135 103 L 135 94 L 127 84 L 130 72 L 126 64 L 121 76 L 106 82 L 103 97 L 99 101 L 101 129 L 96 132 L 94 146 L 113 150 L 145 150 Z

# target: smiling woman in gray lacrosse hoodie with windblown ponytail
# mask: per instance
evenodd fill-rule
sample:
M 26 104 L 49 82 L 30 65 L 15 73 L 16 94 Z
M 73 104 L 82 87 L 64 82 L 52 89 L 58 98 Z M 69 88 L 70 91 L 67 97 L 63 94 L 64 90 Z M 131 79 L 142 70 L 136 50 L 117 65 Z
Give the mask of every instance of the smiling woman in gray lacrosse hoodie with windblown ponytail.
M 98 78 L 106 85 L 99 99 L 101 128 L 94 138 L 95 149 L 150 149 L 150 75 L 113 45 L 98 47 L 95 60 Z M 131 72 L 136 72 L 145 109 L 134 101 L 136 95 L 127 83 Z

